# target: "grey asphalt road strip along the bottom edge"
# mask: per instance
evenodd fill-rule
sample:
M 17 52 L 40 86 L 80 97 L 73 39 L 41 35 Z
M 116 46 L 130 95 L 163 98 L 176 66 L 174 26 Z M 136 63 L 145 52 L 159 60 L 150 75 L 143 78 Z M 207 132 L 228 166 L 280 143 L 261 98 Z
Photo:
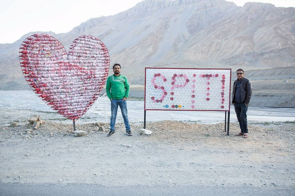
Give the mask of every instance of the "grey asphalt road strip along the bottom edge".
M 116 182 L 114 182 L 116 184 Z M 103 186 L 96 184 L 20 184 L 20 183 L 0 183 L 0 196 L 173 196 L 173 195 L 194 195 L 194 196 L 216 196 L 216 195 L 235 195 L 235 196 L 272 196 L 272 195 L 295 195 L 295 189 L 275 189 L 267 187 L 253 187 L 253 186 L 133 186 L 116 187 Z

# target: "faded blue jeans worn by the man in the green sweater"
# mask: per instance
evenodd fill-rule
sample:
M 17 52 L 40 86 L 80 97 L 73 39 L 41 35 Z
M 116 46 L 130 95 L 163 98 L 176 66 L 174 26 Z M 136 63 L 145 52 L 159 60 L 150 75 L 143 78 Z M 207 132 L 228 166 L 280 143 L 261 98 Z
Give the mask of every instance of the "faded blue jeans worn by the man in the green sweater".
M 118 106 L 121 108 L 122 116 L 124 119 L 124 124 L 126 131 L 130 130 L 130 125 L 129 125 L 129 120 L 128 120 L 128 115 L 127 115 L 127 101 L 123 101 L 123 99 L 113 99 L 111 100 L 111 111 L 112 111 L 112 116 L 111 116 L 111 131 L 115 132 L 115 124 L 116 124 L 116 117 L 117 117 L 117 111 L 118 111 Z

